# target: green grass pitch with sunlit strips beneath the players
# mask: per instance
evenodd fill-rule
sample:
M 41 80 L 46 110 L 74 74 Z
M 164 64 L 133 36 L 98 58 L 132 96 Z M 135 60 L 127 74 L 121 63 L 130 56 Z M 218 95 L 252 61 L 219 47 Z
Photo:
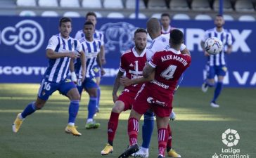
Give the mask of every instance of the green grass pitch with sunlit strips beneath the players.
M 0 84 L 0 157 L 1 158 L 98 158 L 107 143 L 107 126 L 112 101 L 112 87 L 101 86 L 100 113 L 95 117 L 99 129 L 86 130 L 88 96 L 84 93 L 76 125 L 82 136 L 64 132 L 68 121 L 69 100 L 58 93 L 39 110 L 27 117 L 18 133 L 11 124 L 18 112 L 37 97 L 38 84 Z M 210 107 L 213 89 L 202 93 L 200 88 L 179 88 L 174 96 L 177 120 L 170 121 L 173 148 L 181 157 L 207 158 L 220 154 L 222 133 L 226 129 L 238 131 L 240 140 L 233 148 L 239 154 L 256 157 L 256 91 L 252 88 L 224 88 L 218 103 Z M 104 157 L 118 157 L 128 145 L 127 118 L 120 114 L 120 124 L 114 141 L 114 152 Z M 141 143 L 141 126 L 139 143 Z M 158 157 L 157 130 L 151 139 L 150 157 Z

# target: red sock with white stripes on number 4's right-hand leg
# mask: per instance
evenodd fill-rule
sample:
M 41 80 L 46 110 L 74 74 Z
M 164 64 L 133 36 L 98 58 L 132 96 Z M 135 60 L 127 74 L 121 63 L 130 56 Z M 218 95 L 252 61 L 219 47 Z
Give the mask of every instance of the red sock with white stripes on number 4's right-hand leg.
M 165 128 L 158 129 L 158 153 L 165 157 L 165 147 L 168 139 L 168 131 Z

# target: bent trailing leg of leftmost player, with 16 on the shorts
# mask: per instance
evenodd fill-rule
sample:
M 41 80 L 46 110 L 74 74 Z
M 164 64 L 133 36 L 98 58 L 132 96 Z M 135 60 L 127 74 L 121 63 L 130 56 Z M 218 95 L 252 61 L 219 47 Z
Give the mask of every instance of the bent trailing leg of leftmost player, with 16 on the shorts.
M 47 82 L 45 79 L 42 79 L 41 86 L 38 91 L 37 100 L 35 102 L 29 103 L 27 107 L 23 110 L 22 113 L 19 113 L 13 122 L 13 132 L 17 133 L 20 129 L 23 120 L 30 114 L 34 113 L 36 110 L 44 107 L 46 100 L 48 100 L 49 96 L 56 91 L 58 88 L 57 84 L 52 84 L 51 82 Z

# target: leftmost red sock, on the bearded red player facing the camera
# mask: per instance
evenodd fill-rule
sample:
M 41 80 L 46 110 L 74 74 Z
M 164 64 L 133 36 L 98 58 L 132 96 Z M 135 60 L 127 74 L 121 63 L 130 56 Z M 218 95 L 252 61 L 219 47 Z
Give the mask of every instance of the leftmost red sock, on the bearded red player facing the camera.
M 108 121 L 108 143 L 113 146 L 115 131 L 117 131 L 119 113 L 111 112 Z

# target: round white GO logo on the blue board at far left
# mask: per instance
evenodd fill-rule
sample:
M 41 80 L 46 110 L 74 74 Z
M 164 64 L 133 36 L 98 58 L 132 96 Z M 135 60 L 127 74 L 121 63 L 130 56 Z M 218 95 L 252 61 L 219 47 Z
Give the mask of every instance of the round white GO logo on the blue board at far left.
M 0 31 L 0 41 L 21 53 L 34 53 L 44 43 L 44 29 L 34 20 L 21 20 Z

